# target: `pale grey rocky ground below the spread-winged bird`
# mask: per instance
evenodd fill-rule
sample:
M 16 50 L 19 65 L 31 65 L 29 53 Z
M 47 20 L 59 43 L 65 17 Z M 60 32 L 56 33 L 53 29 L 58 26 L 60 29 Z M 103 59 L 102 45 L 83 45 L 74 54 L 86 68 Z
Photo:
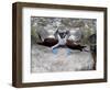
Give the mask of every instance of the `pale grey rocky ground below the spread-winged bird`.
M 53 54 L 50 47 L 32 45 L 31 72 L 80 71 L 92 70 L 94 58 L 90 52 L 58 48 Z

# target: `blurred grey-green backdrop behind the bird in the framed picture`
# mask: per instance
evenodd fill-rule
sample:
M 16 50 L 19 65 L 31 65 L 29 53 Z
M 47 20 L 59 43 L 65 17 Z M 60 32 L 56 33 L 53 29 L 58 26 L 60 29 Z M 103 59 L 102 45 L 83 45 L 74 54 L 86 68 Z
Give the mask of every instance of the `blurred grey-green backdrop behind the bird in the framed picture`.
M 91 50 L 96 52 L 96 19 L 31 16 L 31 44 L 54 37 L 61 26 L 62 30 L 70 31 L 69 40 L 90 45 Z

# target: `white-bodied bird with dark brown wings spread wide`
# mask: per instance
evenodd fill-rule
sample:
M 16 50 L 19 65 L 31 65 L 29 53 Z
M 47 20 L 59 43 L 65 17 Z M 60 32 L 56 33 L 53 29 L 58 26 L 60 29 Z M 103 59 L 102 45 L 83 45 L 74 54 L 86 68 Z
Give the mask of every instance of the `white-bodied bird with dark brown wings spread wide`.
M 37 44 L 51 47 L 52 49 L 58 47 L 68 47 L 70 49 L 77 49 L 82 52 L 86 46 L 82 46 L 81 44 L 77 43 L 80 37 L 81 33 L 79 31 L 74 31 L 74 35 L 70 35 L 70 31 L 62 30 L 62 27 L 59 27 L 54 33 L 54 36 L 48 36 L 44 38 L 43 42 L 40 42 Z

